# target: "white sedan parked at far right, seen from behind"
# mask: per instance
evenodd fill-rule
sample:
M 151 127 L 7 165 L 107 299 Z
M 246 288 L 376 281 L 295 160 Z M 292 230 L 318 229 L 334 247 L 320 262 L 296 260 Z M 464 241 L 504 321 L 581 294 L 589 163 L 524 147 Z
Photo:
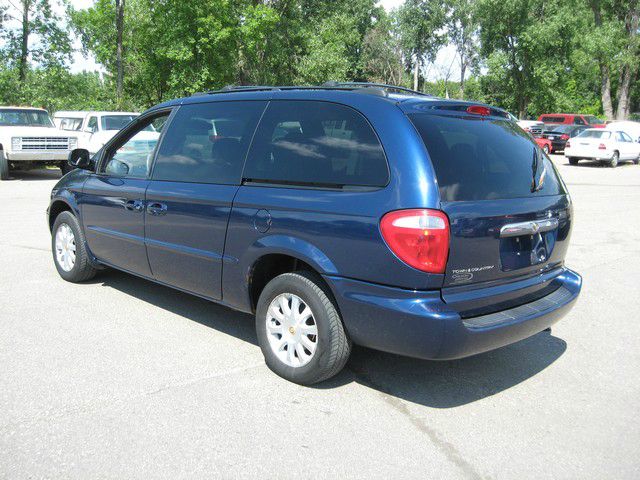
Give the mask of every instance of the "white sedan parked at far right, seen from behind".
M 615 168 L 621 161 L 640 163 L 640 143 L 619 130 L 589 128 L 567 142 L 564 155 L 571 165 L 580 160 L 595 160 Z

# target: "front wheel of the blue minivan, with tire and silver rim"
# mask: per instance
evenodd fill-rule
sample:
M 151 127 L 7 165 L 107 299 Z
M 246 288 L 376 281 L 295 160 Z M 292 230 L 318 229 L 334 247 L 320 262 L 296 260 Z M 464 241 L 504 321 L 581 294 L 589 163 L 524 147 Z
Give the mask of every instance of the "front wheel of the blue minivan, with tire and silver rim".
M 73 242 L 71 242 L 68 236 L 69 231 L 73 235 L 71 239 Z M 58 234 L 61 236 L 61 244 L 58 244 Z M 68 246 L 68 248 L 60 249 L 61 246 Z M 67 255 L 63 255 L 61 250 L 66 251 Z M 73 257 L 72 262 L 69 261 L 67 263 L 64 259 L 69 258 L 69 251 L 74 251 L 75 257 Z M 56 270 L 58 270 L 60 276 L 68 282 L 84 282 L 93 278 L 97 272 L 91 265 L 85 246 L 84 234 L 82 233 L 78 219 L 71 212 L 65 211 L 56 217 L 53 229 L 51 230 L 51 252 Z

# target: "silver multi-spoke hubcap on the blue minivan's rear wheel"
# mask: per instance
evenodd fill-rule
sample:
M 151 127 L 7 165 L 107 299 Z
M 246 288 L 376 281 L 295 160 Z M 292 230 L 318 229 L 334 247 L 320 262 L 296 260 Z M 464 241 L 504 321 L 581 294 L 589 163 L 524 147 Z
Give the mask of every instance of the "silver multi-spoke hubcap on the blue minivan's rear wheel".
M 302 367 L 311 361 L 318 346 L 318 326 L 300 297 L 278 295 L 267 309 L 266 322 L 269 346 L 281 362 Z

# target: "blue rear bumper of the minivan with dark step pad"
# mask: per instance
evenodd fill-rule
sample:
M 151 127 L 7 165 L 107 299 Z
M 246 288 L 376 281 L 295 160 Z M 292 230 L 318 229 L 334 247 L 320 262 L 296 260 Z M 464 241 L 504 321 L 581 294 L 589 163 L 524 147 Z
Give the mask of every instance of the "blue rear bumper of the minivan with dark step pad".
M 563 268 L 560 286 L 534 302 L 463 319 L 439 291 L 415 292 L 339 277 L 325 277 L 354 343 L 410 357 L 468 357 L 523 340 L 556 323 L 575 304 L 582 286 Z

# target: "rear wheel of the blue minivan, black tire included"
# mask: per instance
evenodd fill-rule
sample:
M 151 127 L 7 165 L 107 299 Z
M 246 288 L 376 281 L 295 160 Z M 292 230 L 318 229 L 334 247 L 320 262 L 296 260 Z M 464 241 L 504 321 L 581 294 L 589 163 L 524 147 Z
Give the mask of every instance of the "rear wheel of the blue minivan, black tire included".
M 286 315 L 287 308 L 293 311 L 294 297 L 301 302 L 298 314 L 310 309 L 306 319 L 297 315 L 291 320 Z M 279 275 L 264 287 L 256 308 L 256 333 L 265 362 L 274 373 L 311 385 L 342 370 L 351 353 L 351 340 L 332 298 L 320 277 L 306 271 Z M 310 333 L 304 334 L 303 328 Z

